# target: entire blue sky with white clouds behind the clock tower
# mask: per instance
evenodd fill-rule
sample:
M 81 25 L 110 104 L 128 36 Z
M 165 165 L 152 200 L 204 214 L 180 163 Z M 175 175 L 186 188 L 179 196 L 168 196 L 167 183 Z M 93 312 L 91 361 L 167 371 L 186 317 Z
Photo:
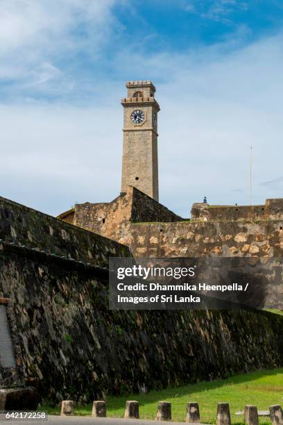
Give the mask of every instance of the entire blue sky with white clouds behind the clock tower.
M 121 181 L 124 83 L 151 79 L 160 201 L 282 197 L 283 3 L 2 0 L 0 194 L 56 215 Z

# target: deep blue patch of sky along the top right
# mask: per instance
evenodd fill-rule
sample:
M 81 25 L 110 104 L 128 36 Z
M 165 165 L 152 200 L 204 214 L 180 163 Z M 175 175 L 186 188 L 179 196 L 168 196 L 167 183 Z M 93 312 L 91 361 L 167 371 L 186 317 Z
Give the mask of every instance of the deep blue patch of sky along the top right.
M 239 27 L 246 27 L 245 42 L 252 42 L 263 33 L 274 33 L 282 24 L 280 1 L 146 0 L 141 5 L 117 5 L 115 12 L 128 42 L 135 37 L 144 39 L 149 51 L 185 52 L 197 44 L 212 45 L 223 42 Z

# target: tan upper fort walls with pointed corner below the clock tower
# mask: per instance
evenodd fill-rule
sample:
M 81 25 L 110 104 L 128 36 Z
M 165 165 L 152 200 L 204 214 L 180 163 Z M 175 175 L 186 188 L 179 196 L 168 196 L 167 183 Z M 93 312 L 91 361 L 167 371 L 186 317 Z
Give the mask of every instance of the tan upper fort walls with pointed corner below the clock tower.
M 152 257 L 283 256 L 283 199 L 262 206 L 194 204 L 182 219 L 136 188 L 110 203 L 76 205 L 76 226 L 130 247 L 133 255 Z

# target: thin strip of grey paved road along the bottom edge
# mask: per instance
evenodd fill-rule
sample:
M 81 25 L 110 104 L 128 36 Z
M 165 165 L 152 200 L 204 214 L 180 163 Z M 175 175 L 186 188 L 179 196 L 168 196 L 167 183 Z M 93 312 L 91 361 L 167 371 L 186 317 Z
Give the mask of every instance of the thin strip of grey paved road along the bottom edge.
M 47 421 L 39 421 L 38 419 L 33 420 L 17 420 L 17 419 L 5 419 L 3 415 L 0 415 L 0 422 L 3 424 L 9 424 L 9 425 L 153 425 L 157 424 L 155 421 L 148 421 L 144 419 L 116 419 L 116 418 L 110 418 L 110 417 L 79 417 L 79 416 L 69 416 L 69 417 L 62 417 L 62 416 L 51 416 L 49 415 Z M 169 422 L 169 424 L 182 424 L 184 425 L 184 422 Z M 201 424 L 200 424 L 201 425 Z

